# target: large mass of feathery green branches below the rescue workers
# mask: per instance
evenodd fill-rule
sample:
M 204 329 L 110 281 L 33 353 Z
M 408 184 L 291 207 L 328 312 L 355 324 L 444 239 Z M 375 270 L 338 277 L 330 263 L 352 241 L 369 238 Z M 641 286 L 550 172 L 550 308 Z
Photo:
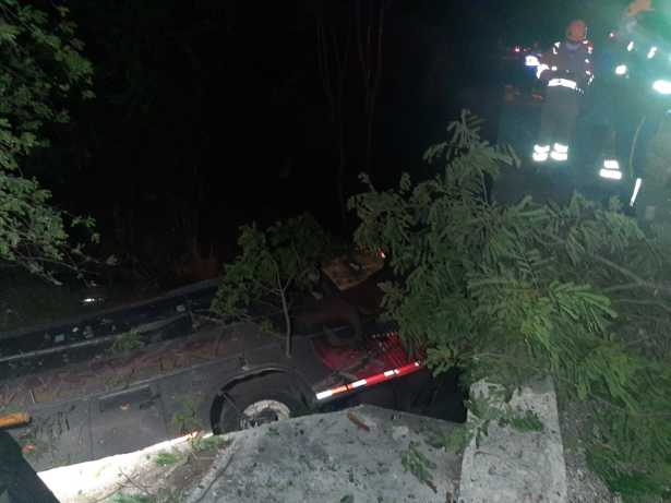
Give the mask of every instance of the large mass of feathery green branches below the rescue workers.
M 387 252 L 398 279 L 384 285 L 386 309 L 438 373 L 457 366 L 510 391 L 551 375 L 562 398 L 592 405 L 586 440 L 608 458 L 607 480 L 668 488 L 669 250 L 616 200 L 489 202 L 487 179 L 517 159 L 479 125 L 468 113 L 451 124 L 451 140 L 427 152 L 445 163 L 431 180 L 404 175 L 378 191 L 362 176 L 356 241 Z

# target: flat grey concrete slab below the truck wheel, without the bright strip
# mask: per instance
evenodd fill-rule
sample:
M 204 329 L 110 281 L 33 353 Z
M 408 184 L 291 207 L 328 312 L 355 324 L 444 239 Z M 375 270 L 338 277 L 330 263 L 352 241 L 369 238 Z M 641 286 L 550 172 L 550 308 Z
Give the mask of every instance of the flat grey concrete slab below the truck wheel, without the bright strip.
M 453 426 L 371 406 L 264 426 L 231 435 L 188 503 L 452 503 L 459 456 L 430 446 Z M 415 451 L 429 483 L 404 468 Z

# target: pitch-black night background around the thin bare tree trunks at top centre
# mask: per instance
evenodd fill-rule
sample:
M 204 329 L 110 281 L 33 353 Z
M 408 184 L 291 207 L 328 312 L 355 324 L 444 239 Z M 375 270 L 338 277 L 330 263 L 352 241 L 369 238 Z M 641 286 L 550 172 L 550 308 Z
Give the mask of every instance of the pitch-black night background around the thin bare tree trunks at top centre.
M 237 225 L 303 209 L 338 229 L 315 12 L 327 5 L 324 26 L 343 43 L 356 0 L 69 3 L 96 68 L 97 98 L 73 111 L 48 154 L 58 169 L 43 175 L 60 203 L 93 213 L 108 241 L 116 212 L 117 227 L 130 229 L 123 239 L 133 236 L 127 245 L 154 240 L 166 253 L 191 227 L 228 255 Z M 386 3 L 371 166 L 381 184 L 405 169 L 430 175 L 421 154 L 463 106 L 495 130 L 498 43 L 551 41 L 574 15 L 608 24 L 620 9 L 597 0 Z M 361 189 L 366 137 L 354 49 L 343 106 L 349 194 Z

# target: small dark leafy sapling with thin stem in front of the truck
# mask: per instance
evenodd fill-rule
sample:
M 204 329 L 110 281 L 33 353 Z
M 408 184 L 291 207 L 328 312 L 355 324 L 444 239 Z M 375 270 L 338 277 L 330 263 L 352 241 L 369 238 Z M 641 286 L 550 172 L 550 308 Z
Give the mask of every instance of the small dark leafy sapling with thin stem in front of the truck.
M 238 245 L 241 252 L 225 266 L 212 309 L 232 318 L 249 318 L 253 303 L 281 310 L 289 356 L 291 291 L 308 288 L 315 263 L 331 250 L 331 238 L 312 216 L 304 214 L 265 230 L 255 225 L 242 226 Z

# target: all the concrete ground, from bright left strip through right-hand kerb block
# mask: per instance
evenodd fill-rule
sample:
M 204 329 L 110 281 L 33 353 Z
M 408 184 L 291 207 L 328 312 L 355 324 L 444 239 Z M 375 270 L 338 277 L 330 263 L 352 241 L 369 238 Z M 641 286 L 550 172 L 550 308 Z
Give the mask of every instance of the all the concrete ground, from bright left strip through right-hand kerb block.
M 513 405 L 536 411 L 544 430 L 523 433 L 491 426 L 480 446 L 471 444 L 463 459 L 432 446 L 454 424 L 361 406 L 232 433 L 209 448 L 196 450 L 182 439 L 40 477 L 61 503 L 135 501 L 119 500 L 121 494 L 154 503 L 618 501 L 586 468 L 579 448 L 562 446 L 551 386 L 526 388 Z M 576 417 L 579 410 L 562 417 L 571 445 L 579 435 Z M 158 464 L 166 453 L 172 463 Z M 424 481 L 404 466 L 404 458 L 417 459 L 415 453 L 429 462 Z

